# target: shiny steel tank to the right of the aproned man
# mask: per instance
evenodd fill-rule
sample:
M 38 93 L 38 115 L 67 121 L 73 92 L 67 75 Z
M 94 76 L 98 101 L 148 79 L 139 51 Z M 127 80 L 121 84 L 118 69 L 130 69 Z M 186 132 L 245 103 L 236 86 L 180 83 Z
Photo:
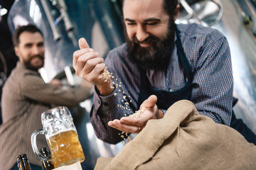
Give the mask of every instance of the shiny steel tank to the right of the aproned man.
M 235 115 L 256 133 L 256 4 L 253 0 L 180 0 L 177 23 L 201 23 L 228 39 L 233 64 Z M 185 4 L 183 6 L 183 4 Z M 195 19 L 196 18 L 196 19 Z

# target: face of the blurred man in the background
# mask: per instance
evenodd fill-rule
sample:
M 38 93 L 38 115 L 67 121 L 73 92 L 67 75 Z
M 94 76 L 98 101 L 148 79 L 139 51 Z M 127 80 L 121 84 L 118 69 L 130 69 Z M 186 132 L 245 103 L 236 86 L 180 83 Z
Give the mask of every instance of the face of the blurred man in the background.
M 15 47 L 19 60 L 26 64 L 28 69 L 38 70 L 43 67 L 45 46 L 40 33 L 23 32 L 19 37 L 20 43 Z

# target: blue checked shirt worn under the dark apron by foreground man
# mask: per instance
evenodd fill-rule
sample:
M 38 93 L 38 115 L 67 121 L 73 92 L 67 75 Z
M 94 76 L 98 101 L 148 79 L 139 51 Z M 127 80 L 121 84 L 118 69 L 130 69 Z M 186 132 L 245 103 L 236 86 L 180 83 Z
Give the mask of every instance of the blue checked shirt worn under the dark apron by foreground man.
M 201 115 L 207 115 L 216 123 L 230 125 L 233 74 L 227 39 L 218 30 L 195 23 L 179 24 L 178 30 L 194 73 L 191 101 Z M 146 70 L 151 86 L 159 90 L 176 91 L 186 84 L 176 45 L 170 57 L 167 71 Z M 140 73 L 137 64 L 127 57 L 126 44 L 111 50 L 105 64 L 112 73 L 115 90 L 110 96 L 100 96 L 95 89 L 90 121 L 97 137 L 117 143 L 122 140 L 118 135 L 120 131 L 110 128 L 107 123 L 139 110 Z

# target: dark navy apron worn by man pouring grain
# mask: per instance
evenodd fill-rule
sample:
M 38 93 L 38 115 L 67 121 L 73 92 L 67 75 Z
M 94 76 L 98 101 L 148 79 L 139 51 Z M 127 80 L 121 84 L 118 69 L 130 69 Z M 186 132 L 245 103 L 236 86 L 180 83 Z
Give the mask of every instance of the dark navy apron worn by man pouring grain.
M 146 98 L 149 98 L 149 96 L 152 94 L 157 96 L 156 105 L 158 106 L 158 108 L 164 110 L 167 110 L 176 101 L 180 101 L 182 99 L 191 100 L 193 72 L 191 69 L 191 65 L 189 64 L 186 54 L 183 50 L 181 38 L 178 35 L 179 32 L 177 26 L 175 26 L 175 30 L 177 37 L 176 45 L 178 60 L 184 69 L 187 82 L 185 86 L 183 86 L 183 88 L 179 89 L 178 91 L 157 90 L 150 85 L 149 79 L 147 79 L 146 77 L 146 71 L 142 68 L 139 68 L 141 73 L 139 106 L 143 103 L 143 101 L 146 100 Z M 234 101 L 233 106 L 235 106 L 235 103 L 236 102 Z M 235 118 L 234 112 L 232 113 L 230 127 L 238 130 L 238 132 L 240 132 L 248 142 L 252 142 L 256 145 L 256 135 L 252 132 L 252 130 L 250 130 L 250 128 L 247 127 L 247 125 L 245 125 L 245 123 L 242 122 L 241 119 Z

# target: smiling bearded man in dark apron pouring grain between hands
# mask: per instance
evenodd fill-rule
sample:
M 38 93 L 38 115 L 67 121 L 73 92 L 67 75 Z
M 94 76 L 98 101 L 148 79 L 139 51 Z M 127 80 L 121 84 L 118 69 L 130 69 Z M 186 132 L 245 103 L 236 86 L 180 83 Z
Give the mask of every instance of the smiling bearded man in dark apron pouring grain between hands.
M 80 39 L 73 67 L 95 84 L 90 121 L 101 140 L 117 143 L 125 138 L 122 131 L 140 132 L 148 120 L 163 118 L 182 99 L 215 123 L 233 125 L 228 41 L 213 28 L 176 25 L 178 9 L 177 0 L 124 0 L 127 42 L 111 50 L 105 62 Z M 112 79 L 105 79 L 106 66 Z M 139 109 L 146 109 L 139 118 L 126 116 Z M 247 140 L 256 143 L 248 131 Z

